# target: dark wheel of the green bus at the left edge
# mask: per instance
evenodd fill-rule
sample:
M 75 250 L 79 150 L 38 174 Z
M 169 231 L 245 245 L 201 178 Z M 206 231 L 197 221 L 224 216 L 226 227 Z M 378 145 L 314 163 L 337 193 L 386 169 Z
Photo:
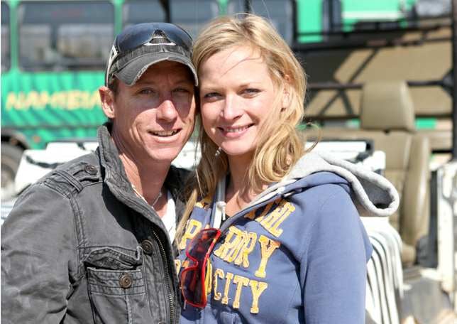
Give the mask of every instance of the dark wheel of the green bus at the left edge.
M 14 177 L 18 171 L 21 156 L 21 148 L 1 143 L 1 200 L 8 200 L 15 194 Z

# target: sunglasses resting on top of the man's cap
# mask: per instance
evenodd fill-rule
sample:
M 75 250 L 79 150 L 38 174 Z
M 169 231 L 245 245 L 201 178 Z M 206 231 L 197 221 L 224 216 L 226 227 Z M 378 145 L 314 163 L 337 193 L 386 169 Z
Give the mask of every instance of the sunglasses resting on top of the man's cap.
M 165 36 L 172 43 L 165 43 L 165 45 L 178 45 L 189 53 L 192 51 L 192 37 L 187 31 L 172 23 L 138 23 L 128 26 L 122 33 L 116 36 L 113 47 L 111 48 L 111 54 L 109 55 L 108 66 L 106 68 L 106 85 L 109 84 L 109 78 L 113 74 L 110 70 L 116 60 L 119 60 L 119 58 L 143 45 L 155 45 L 150 43 L 150 41 L 157 34 Z

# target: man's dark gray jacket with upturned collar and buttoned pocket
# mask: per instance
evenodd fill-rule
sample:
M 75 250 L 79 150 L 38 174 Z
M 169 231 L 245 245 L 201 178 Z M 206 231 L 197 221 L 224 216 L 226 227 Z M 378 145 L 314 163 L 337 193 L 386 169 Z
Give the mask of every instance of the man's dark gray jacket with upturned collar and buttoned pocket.
M 185 175 L 165 180 L 177 215 Z M 177 323 L 179 298 L 167 230 L 106 126 L 95 153 L 31 185 L 1 228 L 2 323 Z

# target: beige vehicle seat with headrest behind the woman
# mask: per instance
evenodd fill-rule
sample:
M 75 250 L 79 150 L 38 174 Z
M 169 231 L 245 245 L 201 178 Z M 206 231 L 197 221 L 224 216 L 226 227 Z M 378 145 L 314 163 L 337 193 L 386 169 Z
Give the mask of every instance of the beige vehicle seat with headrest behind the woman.
M 385 177 L 400 194 L 390 223 L 403 241 L 402 261 L 416 259 L 416 244 L 429 229 L 429 139 L 416 133 L 414 106 L 402 81 L 367 82 L 360 100 L 360 129 L 321 129 L 322 139 L 372 139 L 385 152 Z M 313 131 L 307 137 L 316 138 Z

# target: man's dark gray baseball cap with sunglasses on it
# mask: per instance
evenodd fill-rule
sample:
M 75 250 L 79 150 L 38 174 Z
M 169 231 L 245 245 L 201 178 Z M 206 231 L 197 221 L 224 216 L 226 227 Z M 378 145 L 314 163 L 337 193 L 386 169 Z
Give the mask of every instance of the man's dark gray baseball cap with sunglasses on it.
M 150 65 L 172 60 L 186 65 L 198 85 L 191 60 L 192 37 L 172 23 L 138 23 L 128 26 L 114 40 L 105 72 L 105 85 L 113 76 L 132 86 Z

